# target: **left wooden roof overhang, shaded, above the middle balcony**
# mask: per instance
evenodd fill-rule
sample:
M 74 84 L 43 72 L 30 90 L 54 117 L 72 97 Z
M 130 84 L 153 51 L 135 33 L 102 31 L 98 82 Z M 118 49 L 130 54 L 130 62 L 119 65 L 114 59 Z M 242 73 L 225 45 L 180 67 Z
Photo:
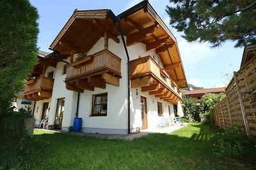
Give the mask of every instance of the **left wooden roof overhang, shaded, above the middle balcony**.
M 74 11 L 50 48 L 66 56 L 88 52 L 100 37 L 104 37 L 105 32 L 119 43 L 119 32 L 113 29 L 114 22 L 115 15 L 111 10 Z

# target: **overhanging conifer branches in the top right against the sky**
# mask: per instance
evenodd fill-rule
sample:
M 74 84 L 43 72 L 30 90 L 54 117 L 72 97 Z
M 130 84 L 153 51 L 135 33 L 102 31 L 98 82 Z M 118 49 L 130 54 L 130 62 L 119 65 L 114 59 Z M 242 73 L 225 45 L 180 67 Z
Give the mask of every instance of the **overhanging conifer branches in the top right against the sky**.
M 170 0 L 170 24 L 187 41 L 209 41 L 212 47 L 229 40 L 235 47 L 256 43 L 255 0 Z

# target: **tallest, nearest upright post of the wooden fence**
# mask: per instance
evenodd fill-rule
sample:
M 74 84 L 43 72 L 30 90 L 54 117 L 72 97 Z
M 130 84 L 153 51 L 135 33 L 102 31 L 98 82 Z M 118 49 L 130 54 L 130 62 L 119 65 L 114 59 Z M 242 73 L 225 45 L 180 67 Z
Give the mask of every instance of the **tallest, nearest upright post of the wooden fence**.
M 239 87 L 239 84 L 238 84 L 238 81 L 237 81 L 236 71 L 234 71 L 234 80 L 235 80 L 235 83 L 236 83 L 236 90 L 237 90 L 237 95 L 238 95 L 238 99 L 239 99 L 239 103 L 240 103 L 240 107 L 241 107 L 241 111 L 242 111 L 242 115 L 243 115 L 246 134 L 248 136 L 250 136 L 251 135 L 250 134 L 250 129 L 249 129 L 249 126 L 248 126 L 248 121 L 246 119 L 246 112 L 245 112 L 245 108 L 244 108 L 244 104 L 243 104 L 243 99 L 242 99 L 242 96 L 241 96 L 240 87 Z

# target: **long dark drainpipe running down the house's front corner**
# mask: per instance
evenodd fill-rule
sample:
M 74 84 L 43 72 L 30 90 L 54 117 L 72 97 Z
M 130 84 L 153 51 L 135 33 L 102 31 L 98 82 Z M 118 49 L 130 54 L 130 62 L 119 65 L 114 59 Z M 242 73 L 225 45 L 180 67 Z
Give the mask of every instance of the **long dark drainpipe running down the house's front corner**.
M 127 46 L 125 44 L 125 39 L 124 39 L 124 34 L 122 31 L 122 27 L 121 27 L 121 23 L 120 23 L 120 15 L 118 15 L 118 26 L 119 26 L 119 31 L 121 34 L 121 38 L 123 41 L 123 45 L 124 45 L 124 49 L 125 49 L 125 53 L 126 53 L 126 57 L 127 57 L 127 86 L 128 86 L 128 134 L 131 133 L 131 111 L 130 111 L 130 57 L 129 57 L 129 53 L 127 50 Z

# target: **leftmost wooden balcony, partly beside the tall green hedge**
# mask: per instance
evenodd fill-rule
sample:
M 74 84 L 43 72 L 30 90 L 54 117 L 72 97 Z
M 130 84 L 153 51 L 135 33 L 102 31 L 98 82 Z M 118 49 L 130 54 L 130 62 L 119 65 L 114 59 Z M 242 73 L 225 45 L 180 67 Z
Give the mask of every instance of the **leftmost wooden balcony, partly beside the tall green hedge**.
M 39 101 L 49 99 L 52 96 L 54 79 L 40 76 L 26 82 L 24 99 Z

